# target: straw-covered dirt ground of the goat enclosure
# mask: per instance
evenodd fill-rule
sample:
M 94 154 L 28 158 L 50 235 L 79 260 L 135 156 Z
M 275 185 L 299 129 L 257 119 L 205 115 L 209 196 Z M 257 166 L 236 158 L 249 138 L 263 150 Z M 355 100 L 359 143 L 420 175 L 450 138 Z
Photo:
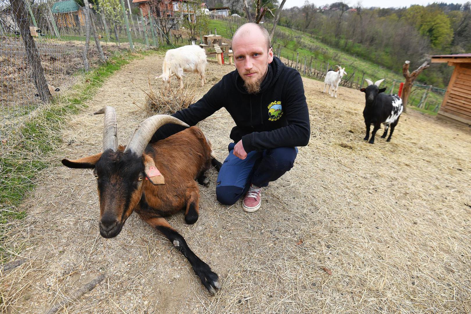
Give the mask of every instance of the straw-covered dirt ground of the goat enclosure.
M 68 121 L 57 159 L 100 151 L 103 117 L 90 113 L 104 105 L 116 108 L 126 144 L 146 117 L 133 105 L 144 100 L 137 87 L 161 63 L 147 56 L 110 78 Z M 199 96 L 232 69 L 209 63 Z M 24 204 L 15 236 L 27 239 L 28 261 L 2 274 L 7 313 L 45 313 L 101 273 L 104 282 L 59 313 L 469 313 L 470 130 L 410 110 L 390 143 L 369 145 L 362 93 L 341 88 L 333 99 L 320 82 L 304 82 L 311 140 L 263 192 L 261 209 L 220 205 L 211 170 L 198 222 L 169 220 L 222 278 L 216 296 L 137 215 L 102 238 L 93 174 L 57 166 Z M 200 123 L 219 160 L 232 126 L 224 109 Z

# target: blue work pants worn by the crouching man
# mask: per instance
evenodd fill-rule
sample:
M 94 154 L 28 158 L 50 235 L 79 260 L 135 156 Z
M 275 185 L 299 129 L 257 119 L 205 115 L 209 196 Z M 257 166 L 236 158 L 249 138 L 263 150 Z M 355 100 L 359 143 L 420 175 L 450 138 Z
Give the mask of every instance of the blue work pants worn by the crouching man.
M 265 187 L 289 171 L 298 153 L 296 147 L 277 147 L 263 152 L 252 151 L 242 160 L 236 157 L 235 143 L 230 143 L 229 155 L 219 170 L 216 197 L 225 205 L 233 205 L 247 193 L 251 184 Z

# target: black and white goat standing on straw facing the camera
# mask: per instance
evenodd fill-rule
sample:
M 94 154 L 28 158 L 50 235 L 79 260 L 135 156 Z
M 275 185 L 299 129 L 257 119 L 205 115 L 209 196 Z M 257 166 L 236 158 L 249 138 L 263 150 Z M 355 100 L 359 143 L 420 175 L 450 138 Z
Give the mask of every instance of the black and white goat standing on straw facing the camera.
M 364 140 L 367 141 L 370 137 L 370 126 L 373 124 L 374 128 L 369 141 L 370 144 L 373 144 L 374 135 L 376 131 L 381 128 L 381 123 L 383 123 L 384 133 L 381 137 L 385 138 L 389 127 L 391 127 L 389 137 L 386 140 L 390 142 L 392 132 L 394 132 L 394 128 L 399 121 L 399 116 L 404 110 L 402 99 L 397 95 L 382 94 L 386 88 L 380 89 L 379 86 L 384 79 L 376 81 L 374 84 L 368 79 L 365 79 L 365 81 L 368 83 L 368 87 L 360 89 L 360 91 L 365 93 L 366 99 L 365 109 L 363 110 L 366 125 L 366 136 Z

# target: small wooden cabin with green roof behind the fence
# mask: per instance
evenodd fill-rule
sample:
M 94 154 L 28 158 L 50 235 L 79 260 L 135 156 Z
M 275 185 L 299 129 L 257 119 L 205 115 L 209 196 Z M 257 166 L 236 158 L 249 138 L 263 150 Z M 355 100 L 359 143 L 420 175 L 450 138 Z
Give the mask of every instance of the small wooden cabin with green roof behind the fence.
M 56 19 L 57 27 L 85 26 L 85 14 L 74 0 L 54 3 L 51 12 Z

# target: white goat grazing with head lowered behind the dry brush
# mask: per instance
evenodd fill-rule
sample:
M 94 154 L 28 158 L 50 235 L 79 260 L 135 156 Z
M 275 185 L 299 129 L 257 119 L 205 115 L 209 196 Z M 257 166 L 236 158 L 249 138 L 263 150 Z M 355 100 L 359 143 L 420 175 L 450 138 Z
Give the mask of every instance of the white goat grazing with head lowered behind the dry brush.
M 194 72 L 201 75 L 201 86 L 204 86 L 204 70 L 206 68 L 206 51 L 196 45 L 187 45 L 175 49 L 167 50 L 165 59 L 162 63 L 162 75 L 156 79 L 162 78 L 163 85 L 170 87 L 170 80 L 175 75 L 179 81 L 180 89 L 183 89 L 183 72 Z

